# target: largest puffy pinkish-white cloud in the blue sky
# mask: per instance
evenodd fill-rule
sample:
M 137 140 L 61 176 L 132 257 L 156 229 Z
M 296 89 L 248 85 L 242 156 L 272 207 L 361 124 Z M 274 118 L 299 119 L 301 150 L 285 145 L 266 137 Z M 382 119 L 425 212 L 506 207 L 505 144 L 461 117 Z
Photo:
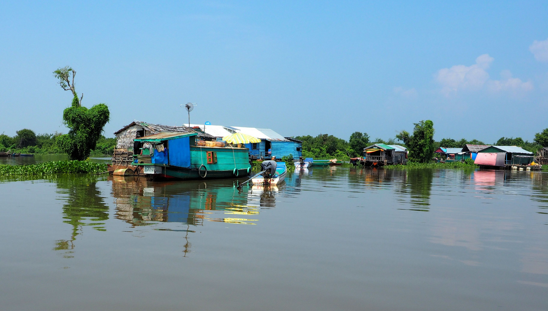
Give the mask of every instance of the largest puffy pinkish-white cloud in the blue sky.
M 533 90 L 531 81 L 523 82 L 521 79 L 512 78 L 510 71 L 501 72 L 501 80 L 490 80 L 487 69 L 493 61 L 494 58 L 489 54 L 483 54 L 478 56 L 476 64 L 471 66 L 455 65 L 439 69 L 436 80 L 442 86 L 441 93 L 450 96 L 458 91 L 482 90 L 484 86 L 487 86 L 490 92 L 518 93 Z

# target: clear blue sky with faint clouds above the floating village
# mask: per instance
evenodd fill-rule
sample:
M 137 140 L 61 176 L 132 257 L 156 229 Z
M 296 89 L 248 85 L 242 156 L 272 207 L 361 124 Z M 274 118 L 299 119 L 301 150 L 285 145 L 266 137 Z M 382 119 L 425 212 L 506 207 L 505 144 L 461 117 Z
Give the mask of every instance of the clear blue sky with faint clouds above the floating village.
M 387 139 L 548 127 L 546 2 L 2 2 L 0 133 L 66 132 L 70 65 L 105 136 L 132 120 Z M 273 112 L 274 111 L 274 112 Z

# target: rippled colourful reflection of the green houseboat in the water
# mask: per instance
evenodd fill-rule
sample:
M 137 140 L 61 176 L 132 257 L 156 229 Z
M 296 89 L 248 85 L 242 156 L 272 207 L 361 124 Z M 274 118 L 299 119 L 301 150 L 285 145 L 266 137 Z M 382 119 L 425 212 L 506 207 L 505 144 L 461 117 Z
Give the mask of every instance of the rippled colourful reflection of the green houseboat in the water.
M 204 220 L 255 224 L 258 220 L 248 219 L 248 215 L 259 214 L 261 207 L 275 207 L 274 193 L 278 190 L 254 186 L 247 192 L 239 192 L 232 180 L 206 183 L 201 180 L 158 182 L 142 177 L 111 178 L 116 218 L 133 226 L 153 222 L 196 226 L 203 225 Z

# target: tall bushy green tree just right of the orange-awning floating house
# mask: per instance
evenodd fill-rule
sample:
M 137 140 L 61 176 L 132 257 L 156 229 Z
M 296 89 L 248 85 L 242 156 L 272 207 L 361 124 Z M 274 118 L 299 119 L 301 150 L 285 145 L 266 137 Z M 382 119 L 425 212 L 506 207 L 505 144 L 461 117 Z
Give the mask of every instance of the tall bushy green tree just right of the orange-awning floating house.
M 409 150 L 409 160 L 427 163 L 432 160 L 434 151 L 434 123 L 430 120 L 415 123 L 413 135 L 407 131 L 401 131 L 396 138 L 403 140 Z

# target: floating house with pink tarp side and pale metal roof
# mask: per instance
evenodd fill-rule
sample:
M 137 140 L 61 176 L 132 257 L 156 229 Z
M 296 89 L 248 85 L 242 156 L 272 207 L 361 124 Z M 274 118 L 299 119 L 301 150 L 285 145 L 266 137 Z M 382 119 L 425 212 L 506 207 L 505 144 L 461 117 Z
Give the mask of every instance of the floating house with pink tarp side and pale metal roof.
M 533 160 L 533 152 L 518 146 L 488 146 L 477 152 L 474 163 L 483 167 L 505 167 L 529 165 Z

